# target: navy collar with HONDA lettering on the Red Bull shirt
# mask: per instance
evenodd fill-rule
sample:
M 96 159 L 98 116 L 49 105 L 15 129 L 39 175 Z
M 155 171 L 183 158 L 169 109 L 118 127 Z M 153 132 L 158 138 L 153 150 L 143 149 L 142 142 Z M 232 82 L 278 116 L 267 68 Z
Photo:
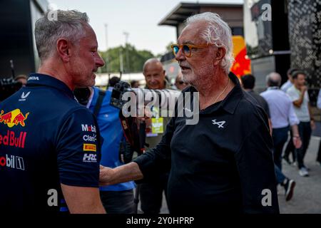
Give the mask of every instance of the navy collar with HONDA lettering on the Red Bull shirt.
M 54 78 L 53 76 L 49 76 L 42 73 L 31 73 L 29 75 L 26 86 L 49 86 L 56 88 L 58 90 L 62 90 L 69 97 L 74 98 L 73 91 L 71 91 L 68 86 L 62 81 Z

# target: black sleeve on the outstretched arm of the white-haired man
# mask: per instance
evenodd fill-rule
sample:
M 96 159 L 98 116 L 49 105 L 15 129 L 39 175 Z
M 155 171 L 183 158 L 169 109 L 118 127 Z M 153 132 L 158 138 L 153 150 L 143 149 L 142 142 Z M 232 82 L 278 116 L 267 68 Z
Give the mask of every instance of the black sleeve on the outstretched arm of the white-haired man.
M 143 173 L 144 180 L 153 180 L 153 177 L 170 170 L 170 141 L 175 130 L 174 125 L 175 118 L 171 118 L 161 142 L 133 160 Z

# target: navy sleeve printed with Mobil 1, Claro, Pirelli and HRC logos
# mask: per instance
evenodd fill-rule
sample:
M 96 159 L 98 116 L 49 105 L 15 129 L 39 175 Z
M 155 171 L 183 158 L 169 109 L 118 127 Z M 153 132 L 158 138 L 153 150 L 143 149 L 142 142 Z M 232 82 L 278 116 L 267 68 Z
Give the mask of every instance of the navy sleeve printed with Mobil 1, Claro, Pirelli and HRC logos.
M 68 114 L 57 139 L 57 162 L 63 185 L 98 187 L 101 137 L 85 108 Z

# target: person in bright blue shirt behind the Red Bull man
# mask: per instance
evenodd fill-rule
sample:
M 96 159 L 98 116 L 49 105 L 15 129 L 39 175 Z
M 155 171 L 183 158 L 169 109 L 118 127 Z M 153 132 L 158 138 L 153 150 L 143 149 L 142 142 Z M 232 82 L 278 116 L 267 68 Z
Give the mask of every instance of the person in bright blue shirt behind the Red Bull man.
M 108 90 L 103 91 L 97 87 L 88 87 L 90 94 L 83 102 L 92 113 L 96 115 L 98 127 L 103 138 L 101 145 L 101 165 L 107 167 L 118 167 L 123 165 L 118 155 L 120 150 L 126 148 L 126 138 L 119 121 L 119 109 L 110 105 L 111 91 L 113 86 L 119 82 L 119 78 L 113 77 L 109 81 Z M 76 95 L 77 93 L 75 93 Z M 81 97 L 85 95 L 79 95 Z M 77 95 L 76 98 L 78 99 Z M 78 100 L 82 100 L 78 99 Z M 96 138 L 86 138 L 86 140 L 96 140 Z M 133 189 L 135 183 L 124 182 L 116 185 L 100 187 L 101 202 L 108 214 L 134 214 L 135 204 Z

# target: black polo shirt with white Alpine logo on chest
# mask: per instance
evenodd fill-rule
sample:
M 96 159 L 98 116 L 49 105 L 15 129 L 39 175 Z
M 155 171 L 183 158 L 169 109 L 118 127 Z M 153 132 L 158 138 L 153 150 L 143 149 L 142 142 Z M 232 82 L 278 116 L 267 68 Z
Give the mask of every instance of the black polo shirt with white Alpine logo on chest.
M 243 92 L 238 78 L 229 77 L 235 88 L 201 110 L 198 124 L 172 118 L 157 147 L 134 160 L 146 180 L 171 162 L 171 213 L 279 212 L 267 115 Z M 194 91 L 190 87 L 183 93 Z M 265 190 L 270 190 L 271 206 L 262 204 Z

